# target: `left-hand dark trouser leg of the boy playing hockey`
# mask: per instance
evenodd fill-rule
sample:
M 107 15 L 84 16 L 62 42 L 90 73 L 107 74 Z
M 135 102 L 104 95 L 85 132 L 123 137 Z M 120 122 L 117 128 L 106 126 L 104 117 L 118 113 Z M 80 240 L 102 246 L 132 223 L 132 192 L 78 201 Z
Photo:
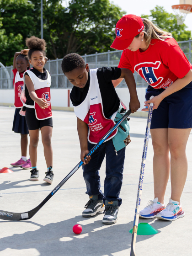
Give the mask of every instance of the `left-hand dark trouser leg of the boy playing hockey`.
M 94 152 L 91 156 L 91 161 L 88 165 L 83 165 L 83 177 L 86 183 L 87 192 L 89 196 L 99 195 L 98 200 L 103 199 L 103 193 L 100 189 L 101 182 L 99 176 L 99 170 L 101 168 L 102 161 L 105 157 L 105 144 L 101 144 L 101 146 Z M 88 142 L 88 150 L 90 151 L 95 144 L 91 144 Z M 115 151 L 114 151 L 115 152 Z

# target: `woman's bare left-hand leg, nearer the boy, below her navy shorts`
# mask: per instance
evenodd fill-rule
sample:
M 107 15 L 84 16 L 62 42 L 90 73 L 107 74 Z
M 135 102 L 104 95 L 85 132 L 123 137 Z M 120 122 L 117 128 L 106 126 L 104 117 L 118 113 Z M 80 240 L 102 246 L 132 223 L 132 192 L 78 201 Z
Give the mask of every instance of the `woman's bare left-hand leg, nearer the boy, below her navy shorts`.
M 154 149 L 153 174 L 154 194 L 160 203 L 164 203 L 165 190 L 170 173 L 168 129 L 151 129 Z

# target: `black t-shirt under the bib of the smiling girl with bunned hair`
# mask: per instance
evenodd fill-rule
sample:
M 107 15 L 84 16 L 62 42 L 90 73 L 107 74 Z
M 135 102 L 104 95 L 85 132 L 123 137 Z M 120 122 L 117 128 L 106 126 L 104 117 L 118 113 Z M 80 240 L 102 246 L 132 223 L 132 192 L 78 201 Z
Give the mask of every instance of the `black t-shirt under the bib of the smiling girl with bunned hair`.
M 47 80 L 48 79 L 48 73 L 47 73 L 47 70 L 45 68 L 43 68 L 43 73 L 41 73 L 40 71 L 38 71 L 37 69 L 35 69 L 33 67 L 31 69 L 29 69 L 29 70 L 32 71 L 32 73 L 35 74 L 41 80 Z M 49 72 L 49 74 L 50 74 L 50 72 Z M 28 74 L 26 73 L 25 75 L 28 75 Z M 26 96 L 26 104 L 33 106 L 34 105 L 34 101 L 29 96 L 29 92 L 28 92 L 27 86 L 25 86 L 25 96 Z M 23 110 L 25 110 L 25 107 L 23 107 Z M 33 108 L 29 108 L 29 107 L 27 107 L 27 111 L 28 112 L 35 112 L 35 110 Z

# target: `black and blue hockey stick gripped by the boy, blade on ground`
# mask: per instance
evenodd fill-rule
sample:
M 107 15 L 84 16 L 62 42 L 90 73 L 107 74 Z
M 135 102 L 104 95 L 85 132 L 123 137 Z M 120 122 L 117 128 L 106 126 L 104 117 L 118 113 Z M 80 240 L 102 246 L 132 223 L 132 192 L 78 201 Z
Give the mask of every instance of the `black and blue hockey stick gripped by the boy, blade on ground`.
M 92 155 L 96 149 L 99 148 L 99 146 L 101 146 L 101 144 L 110 136 L 110 134 L 112 134 L 112 132 L 131 114 L 131 110 L 129 109 L 128 112 L 126 112 L 123 117 L 106 133 L 106 135 L 89 151 L 89 153 L 86 155 Z M 85 156 L 85 158 L 86 158 Z M 69 174 L 63 179 L 63 181 L 61 181 L 59 183 L 59 185 L 57 187 L 55 187 L 53 189 L 52 192 L 50 192 L 50 194 L 48 194 L 48 196 L 34 209 L 32 209 L 31 211 L 28 212 L 24 212 L 24 213 L 11 213 L 11 212 L 7 212 L 7 211 L 2 211 L 0 210 L 0 219 L 5 219 L 5 220 L 26 220 L 26 219 L 31 219 L 35 213 L 38 212 L 38 210 L 40 210 L 43 205 L 45 203 L 48 202 L 48 200 L 53 197 L 53 195 L 59 190 L 59 188 L 61 188 L 64 183 L 66 181 L 69 180 L 69 178 L 75 173 L 75 171 L 77 171 L 80 166 L 83 165 L 83 162 L 80 161 L 78 165 L 75 166 L 75 168 L 69 172 Z

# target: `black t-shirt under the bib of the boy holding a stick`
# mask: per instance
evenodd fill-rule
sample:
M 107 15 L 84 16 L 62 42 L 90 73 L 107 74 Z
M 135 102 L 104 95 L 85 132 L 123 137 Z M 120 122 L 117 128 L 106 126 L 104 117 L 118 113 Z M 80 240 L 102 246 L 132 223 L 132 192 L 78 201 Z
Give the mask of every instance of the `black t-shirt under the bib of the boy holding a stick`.
M 103 103 L 103 112 L 106 118 L 112 116 L 119 108 L 119 98 L 117 92 L 112 84 L 112 80 L 117 80 L 121 76 L 121 69 L 117 67 L 99 68 L 97 69 L 97 79 L 99 82 L 99 89 L 101 91 L 101 99 Z M 70 93 L 70 99 L 73 106 L 79 106 L 87 96 L 90 85 L 90 74 L 84 88 L 73 86 Z

